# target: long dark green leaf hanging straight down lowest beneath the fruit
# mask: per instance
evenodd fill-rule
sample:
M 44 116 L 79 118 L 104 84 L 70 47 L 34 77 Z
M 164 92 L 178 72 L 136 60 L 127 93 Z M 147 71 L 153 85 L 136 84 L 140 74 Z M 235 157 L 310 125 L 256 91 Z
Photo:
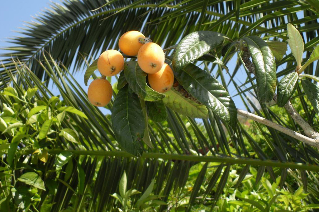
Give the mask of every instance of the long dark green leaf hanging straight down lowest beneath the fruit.
M 112 127 L 116 141 L 123 150 L 141 155 L 139 141 L 144 136 L 145 122 L 138 96 L 125 85 L 115 97 L 112 110 Z

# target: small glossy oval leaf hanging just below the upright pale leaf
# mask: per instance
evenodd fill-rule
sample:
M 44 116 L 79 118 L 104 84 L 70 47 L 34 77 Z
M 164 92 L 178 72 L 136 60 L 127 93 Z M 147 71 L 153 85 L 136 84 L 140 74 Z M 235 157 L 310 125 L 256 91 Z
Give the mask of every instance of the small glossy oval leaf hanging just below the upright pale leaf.
M 277 105 L 283 107 L 292 97 L 298 85 L 298 73 L 292 72 L 283 77 L 277 88 Z

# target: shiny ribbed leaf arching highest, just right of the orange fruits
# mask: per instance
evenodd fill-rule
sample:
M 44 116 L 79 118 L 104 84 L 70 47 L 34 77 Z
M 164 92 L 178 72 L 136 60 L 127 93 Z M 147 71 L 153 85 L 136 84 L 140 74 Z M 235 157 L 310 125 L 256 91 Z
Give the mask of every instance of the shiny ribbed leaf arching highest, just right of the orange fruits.
M 221 33 L 197 31 L 188 34 L 177 45 L 173 54 L 173 67 L 178 71 L 194 60 L 202 57 L 224 41 Z

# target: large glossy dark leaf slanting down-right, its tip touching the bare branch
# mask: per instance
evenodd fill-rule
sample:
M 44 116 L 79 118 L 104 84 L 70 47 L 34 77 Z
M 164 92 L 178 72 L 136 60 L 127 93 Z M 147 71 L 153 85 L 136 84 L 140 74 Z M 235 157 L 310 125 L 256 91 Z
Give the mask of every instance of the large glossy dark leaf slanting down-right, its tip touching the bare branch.
M 180 71 L 174 71 L 174 75 L 193 97 L 211 108 L 221 120 L 235 127 L 237 109 L 234 101 L 217 79 L 193 64 L 185 66 Z

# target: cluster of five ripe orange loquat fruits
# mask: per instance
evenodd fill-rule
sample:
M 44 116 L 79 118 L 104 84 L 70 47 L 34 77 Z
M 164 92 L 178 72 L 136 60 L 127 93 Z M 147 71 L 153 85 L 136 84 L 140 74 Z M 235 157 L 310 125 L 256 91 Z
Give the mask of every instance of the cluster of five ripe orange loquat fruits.
M 163 49 L 138 31 L 128 31 L 119 39 L 120 50 L 128 56 L 137 56 L 139 67 L 148 74 L 153 90 L 163 93 L 173 86 L 174 74 L 165 63 Z M 98 59 L 98 70 L 104 76 L 114 76 L 124 69 L 123 55 L 116 50 L 104 51 Z M 106 106 L 112 98 L 112 86 L 106 79 L 95 79 L 89 85 L 88 99 L 95 106 Z

